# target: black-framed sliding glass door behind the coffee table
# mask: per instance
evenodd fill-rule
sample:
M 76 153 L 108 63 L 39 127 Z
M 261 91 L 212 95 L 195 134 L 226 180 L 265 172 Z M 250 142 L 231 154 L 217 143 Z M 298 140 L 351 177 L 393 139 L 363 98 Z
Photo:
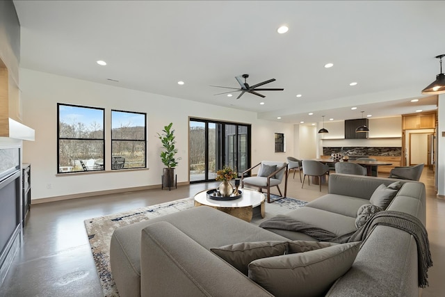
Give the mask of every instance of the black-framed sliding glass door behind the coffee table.
M 250 125 L 190 119 L 190 182 L 209 182 L 230 166 L 239 174 L 250 167 Z

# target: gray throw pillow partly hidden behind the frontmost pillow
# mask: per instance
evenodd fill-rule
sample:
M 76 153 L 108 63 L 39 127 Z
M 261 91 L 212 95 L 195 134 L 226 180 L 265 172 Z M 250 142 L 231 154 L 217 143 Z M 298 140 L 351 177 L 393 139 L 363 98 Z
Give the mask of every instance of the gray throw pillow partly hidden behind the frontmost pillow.
M 248 265 L 250 262 L 266 257 L 284 255 L 287 250 L 286 241 L 257 241 L 235 243 L 220 248 L 211 248 L 225 262 L 234 266 L 238 271 L 248 275 Z

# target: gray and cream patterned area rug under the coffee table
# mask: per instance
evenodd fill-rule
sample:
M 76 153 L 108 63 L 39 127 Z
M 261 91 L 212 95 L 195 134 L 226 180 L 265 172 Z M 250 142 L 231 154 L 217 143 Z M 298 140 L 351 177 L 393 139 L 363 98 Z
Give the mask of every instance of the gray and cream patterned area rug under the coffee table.
M 270 195 L 271 200 L 278 198 Z M 259 207 L 254 209 L 252 224 L 259 225 L 262 220 L 272 218 L 277 214 L 284 214 L 292 209 L 302 207 L 307 202 L 293 199 L 283 198 L 273 203 L 266 203 L 266 216 L 261 218 Z M 118 227 L 137 223 L 142 220 L 149 220 L 165 214 L 172 214 L 177 211 L 189 209 L 193 207 L 193 198 L 184 198 L 171 202 L 156 204 L 150 207 L 142 207 L 131 211 L 121 212 L 119 214 L 111 214 L 108 216 L 100 216 L 98 218 L 90 218 L 85 220 L 86 232 L 90 240 L 92 257 L 95 260 L 99 281 L 102 291 L 106 297 L 118 297 L 118 290 L 115 287 L 113 275 L 110 268 L 110 241 L 113 231 Z

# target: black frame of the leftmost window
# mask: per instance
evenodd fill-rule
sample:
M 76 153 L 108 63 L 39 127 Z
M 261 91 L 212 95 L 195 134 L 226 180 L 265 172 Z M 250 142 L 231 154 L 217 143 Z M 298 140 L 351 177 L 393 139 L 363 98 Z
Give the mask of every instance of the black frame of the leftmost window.
M 96 109 L 102 111 L 102 138 L 72 138 L 72 137 L 60 137 L 60 106 L 70 106 L 77 107 L 81 109 Z M 97 168 L 94 170 L 83 170 L 83 171 L 61 171 L 60 168 L 64 166 L 60 166 L 60 141 L 102 141 L 102 152 L 103 152 L 103 160 L 106 159 L 106 151 L 105 151 L 105 109 L 94 106 L 83 106 L 76 104 L 67 104 L 67 103 L 57 103 L 57 174 L 65 174 L 65 173 L 83 173 L 83 172 L 94 172 L 94 171 L 104 171 L 105 164 L 102 168 Z

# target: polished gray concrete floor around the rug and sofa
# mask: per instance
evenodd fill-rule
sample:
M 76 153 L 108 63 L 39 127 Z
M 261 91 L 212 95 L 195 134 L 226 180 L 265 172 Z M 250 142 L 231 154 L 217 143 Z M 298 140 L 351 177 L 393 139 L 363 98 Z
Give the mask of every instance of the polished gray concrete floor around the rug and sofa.
M 426 227 L 434 262 L 428 271 L 430 287 L 423 289 L 422 296 L 444 296 L 445 200 L 436 198 L 434 175 L 427 168 L 423 170 L 421 182 L 427 187 Z M 31 204 L 22 248 L 0 287 L 0 296 L 102 296 L 83 220 L 192 197 L 217 184 L 219 182 L 179 186 L 172 191 L 153 189 Z M 312 201 L 325 193 L 325 184 L 321 192 L 313 184 L 305 183 L 301 188 L 298 172 L 295 179 L 289 178 L 288 197 Z

